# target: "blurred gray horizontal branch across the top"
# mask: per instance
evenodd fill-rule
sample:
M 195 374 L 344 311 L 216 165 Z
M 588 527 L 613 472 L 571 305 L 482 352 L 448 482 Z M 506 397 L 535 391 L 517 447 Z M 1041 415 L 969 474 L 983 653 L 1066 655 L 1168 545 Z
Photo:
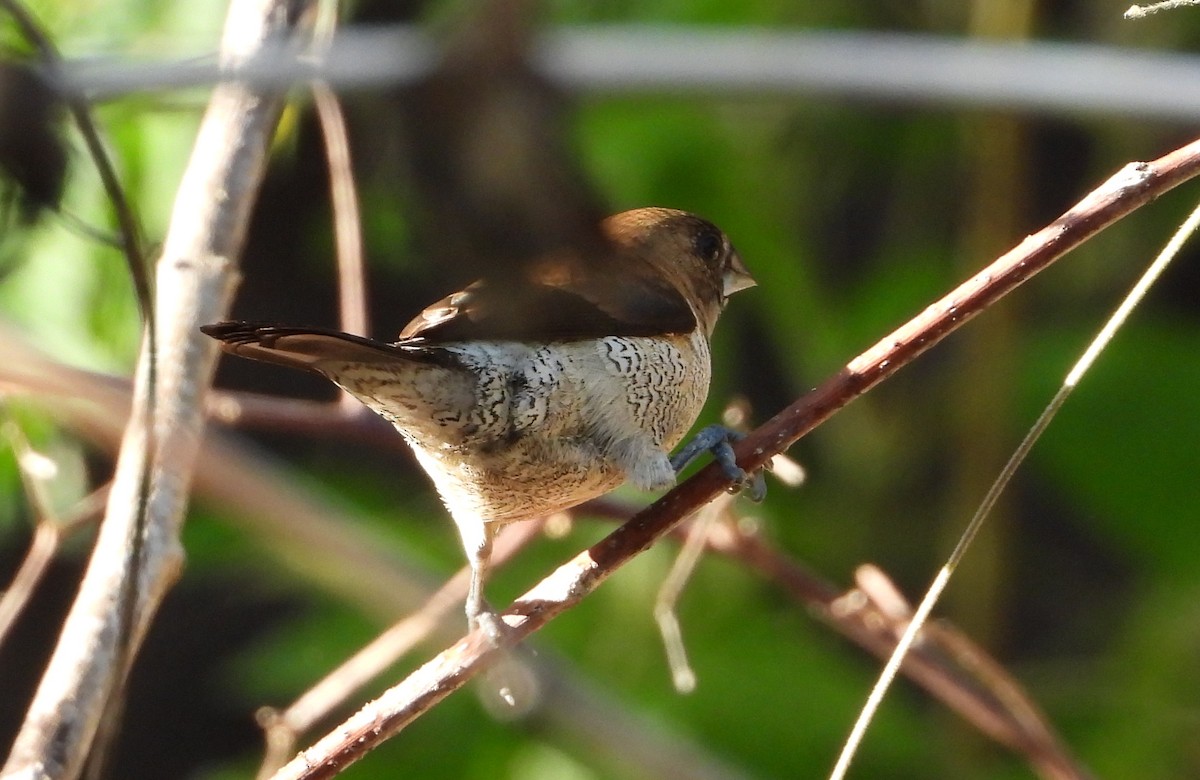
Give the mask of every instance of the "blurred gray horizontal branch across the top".
M 320 79 L 344 89 L 409 83 L 433 66 L 432 41 L 412 28 L 338 31 L 320 59 L 287 47 L 228 68 L 212 59 L 76 60 L 72 89 L 96 97 L 238 78 L 287 88 Z M 1200 56 L 1046 41 L 978 41 L 887 32 L 678 26 L 547 30 L 535 64 L 582 92 L 706 96 L 826 95 L 1046 113 L 1200 118 Z

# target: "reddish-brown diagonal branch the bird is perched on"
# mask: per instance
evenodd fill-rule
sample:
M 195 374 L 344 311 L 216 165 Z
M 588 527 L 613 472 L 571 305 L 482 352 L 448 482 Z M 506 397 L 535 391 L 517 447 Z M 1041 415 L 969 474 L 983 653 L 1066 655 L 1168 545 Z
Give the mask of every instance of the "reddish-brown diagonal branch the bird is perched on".
M 738 464 L 748 470 L 762 467 L 774 454 L 787 449 L 991 302 L 1122 216 L 1198 173 L 1200 142 L 1150 163 L 1126 166 L 1052 223 L 1026 238 L 752 432 L 736 448 Z M 727 487 L 728 479 L 715 464 L 702 469 L 517 599 L 502 616 L 509 626 L 502 641 L 488 642 L 478 631 L 463 637 L 302 751 L 275 775 L 276 779 L 312 780 L 336 775 L 487 668 L 504 648 L 571 608 L 617 569 Z

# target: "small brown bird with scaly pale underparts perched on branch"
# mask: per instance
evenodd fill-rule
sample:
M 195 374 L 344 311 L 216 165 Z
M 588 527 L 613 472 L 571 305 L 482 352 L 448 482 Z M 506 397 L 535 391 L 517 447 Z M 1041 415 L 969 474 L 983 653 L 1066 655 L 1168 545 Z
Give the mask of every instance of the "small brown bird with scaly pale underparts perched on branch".
M 493 636 L 482 586 L 504 523 L 626 480 L 670 487 L 704 450 L 748 481 L 722 428 L 670 451 L 708 395 L 716 318 L 754 280 L 725 234 L 691 214 L 637 209 L 601 227 L 605 257 L 563 253 L 475 282 L 392 343 L 256 323 L 202 329 L 235 355 L 320 373 L 396 426 L 462 535 L 468 619 Z

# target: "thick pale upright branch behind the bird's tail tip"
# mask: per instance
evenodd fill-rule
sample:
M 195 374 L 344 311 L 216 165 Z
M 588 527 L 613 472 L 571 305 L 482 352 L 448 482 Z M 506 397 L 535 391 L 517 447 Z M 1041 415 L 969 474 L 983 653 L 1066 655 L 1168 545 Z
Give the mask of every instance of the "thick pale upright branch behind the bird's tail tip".
M 236 66 L 268 40 L 289 34 L 306 4 L 234 2 L 222 62 Z M 222 84 L 212 95 L 156 271 L 158 382 L 152 404 L 143 350 L 134 414 L 125 430 L 104 522 L 5 776 L 79 775 L 106 707 L 120 696 L 127 664 L 182 565 L 179 528 L 216 361 L 216 350 L 197 329 L 228 311 L 235 260 L 280 108 L 277 95 L 238 83 Z M 152 437 L 143 425 L 148 406 L 154 407 Z M 130 550 L 142 554 L 133 559 Z M 127 594 L 134 594 L 132 601 Z

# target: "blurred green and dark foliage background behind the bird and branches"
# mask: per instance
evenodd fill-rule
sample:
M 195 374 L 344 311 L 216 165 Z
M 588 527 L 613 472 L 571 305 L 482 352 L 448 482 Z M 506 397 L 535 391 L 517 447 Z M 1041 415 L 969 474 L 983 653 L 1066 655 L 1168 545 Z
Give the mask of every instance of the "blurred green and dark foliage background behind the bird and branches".
M 456 18 L 449 4 L 422 5 L 349 4 L 344 24 L 437 29 Z M 211 0 L 32 7 L 67 58 L 131 62 L 211 53 L 226 11 Z M 629 25 L 617 31 L 650 36 L 636 38 L 640 56 L 655 61 L 658 52 L 674 73 L 568 85 L 569 143 L 606 205 L 696 211 L 728 233 L 760 282 L 732 300 L 718 329 L 703 421 L 734 397 L 750 404 L 755 422 L 766 420 L 1126 162 L 1194 137 L 1200 103 L 1182 91 L 1174 101 L 1190 85 L 1186 71 L 1171 68 L 1189 66 L 1194 82 L 1200 60 L 1153 58 L 1184 56 L 1200 43 L 1200 10 L 1124 22 L 1124 8 L 1067 0 L 545 4 L 546 31 L 581 25 L 576 32 L 587 36 L 599 30 L 592 25 Z M 713 73 L 769 53 L 764 40 L 745 36 L 731 49 L 724 37 L 750 32 L 811 36 L 796 38 L 796 59 L 827 52 L 828 72 L 816 67 L 796 83 L 782 73 L 775 85 L 718 83 Z M 911 36 L 888 41 L 934 56 L 934 67 L 902 59 L 910 49 L 900 47 L 894 62 L 881 62 L 864 38 L 842 37 L 865 32 Z M 6 30 L 5 40 L 16 38 Z M 938 40 L 968 53 L 1030 46 L 1003 49 L 991 71 L 982 60 L 961 65 Z M 679 41 L 696 59 L 679 56 L 689 50 Z M 1051 43 L 1092 48 L 1037 59 L 1043 49 L 1034 44 Z M 1117 89 L 1121 58 L 1139 53 L 1163 70 L 1134 71 L 1128 89 Z M 851 86 L 856 54 L 869 67 Z M 1052 94 L 1074 56 L 1092 59 L 1079 82 Z M 695 62 L 708 76 L 688 79 Z M 1138 82 L 1154 72 L 1164 76 Z M 906 74 L 926 86 L 904 85 L 896 77 Z M 862 86 L 874 77 L 877 86 Z M 967 84 L 959 91 L 936 86 L 959 79 Z M 163 235 L 205 96 L 200 88 L 139 92 L 97 108 L 151 241 Z M 234 313 L 335 325 L 325 157 L 311 102 L 298 97 L 275 143 Z M 361 86 L 344 103 L 364 206 L 371 335 L 389 337 L 462 280 L 427 262 L 436 236 L 414 229 L 415 196 L 395 131 L 401 101 Z M 73 132 L 65 140 L 74 164 L 64 210 L 110 229 L 82 142 Z M 1184 185 L 1141 209 L 838 414 L 791 451 L 808 469 L 806 485 L 773 484 L 763 504 L 740 511 L 834 582 L 848 587 L 856 566 L 871 562 L 916 600 L 1090 335 L 1198 193 Z M 1097 776 L 1200 773 L 1198 278 L 1196 256 L 1186 252 L 1038 444 L 938 610 L 1027 688 Z M 0 320 L 29 344 L 127 376 L 139 332 L 130 289 L 114 250 L 60 217 L 26 227 L 8 212 Z M 316 379 L 244 361 L 224 365 L 218 384 L 334 397 Z M 0 406 L 5 425 L 56 466 L 52 499 L 68 506 L 107 479 L 110 454 L 55 412 L 20 394 Z M 462 564 L 452 526 L 402 449 L 296 432 L 248 436 L 264 463 L 343 514 L 347 535 L 368 540 L 396 566 L 420 566 L 437 582 Z M 13 449 L 0 448 L 4 583 L 31 533 Z M 565 538 L 536 540 L 496 574 L 493 601 L 505 604 L 608 527 L 580 516 Z M 184 541 L 187 570 L 134 671 L 113 776 L 248 776 L 260 752 L 254 710 L 292 701 L 398 614 L 364 595 L 371 588 L 355 577 L 366 575 L 353 566 L 326 571 L 336 554 L 305 550 L 286 527 L 256 527 L 220 500 L 197 497 Z M 89 532 L 72 538 L 0 646 L 0 744 L 24 713 L 89 542 Z M 649 551 L 529 643 L 586 694 L 580 719 L 535 708 L 498 720 L 463 691 L 346 776 L 662 776 L 600 737 L 613 722 L 635 724 L 664 751 L 694 758 L 671 776 L 701 776 L 698 767 L 713 773 L 706 776 L 821 776 L 878 661 L 770 583 L 708 557 L 679 608 L 698 685 L 674 692 L 652 606 L 676 553 L 674 542 Z M 389 679 L 434 649 L 424 647 Z M 863 778 L 1030 774 L 1020 756 L 905 682 L 856 768 Z

